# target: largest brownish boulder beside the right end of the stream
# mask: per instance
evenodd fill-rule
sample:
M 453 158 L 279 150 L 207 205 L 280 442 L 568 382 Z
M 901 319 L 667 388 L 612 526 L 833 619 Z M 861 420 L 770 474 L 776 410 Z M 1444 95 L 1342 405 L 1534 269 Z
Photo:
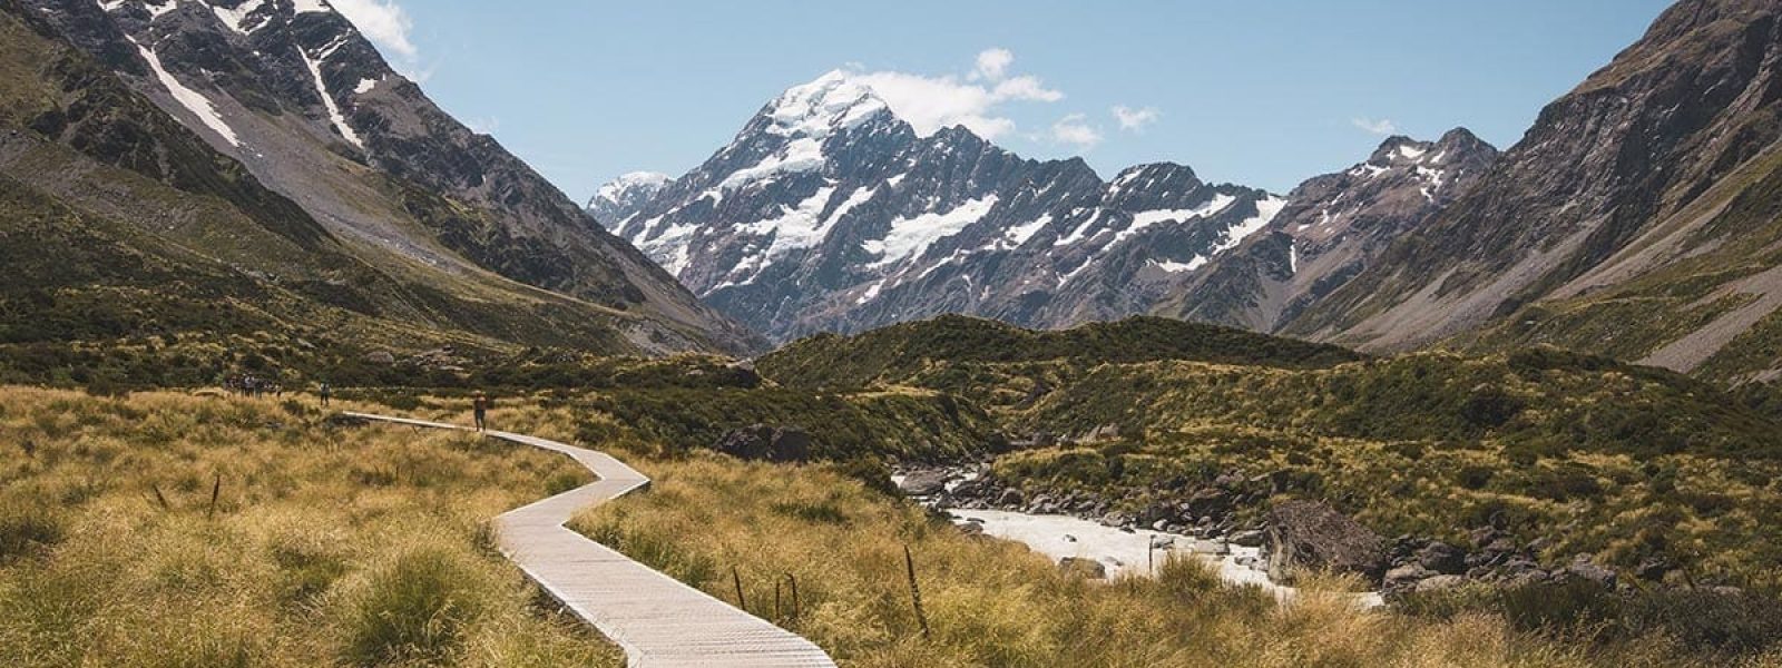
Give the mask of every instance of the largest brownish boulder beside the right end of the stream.
M 1287 501 L 1269 509 L 1263 550 L 1269 577 L 1278 582 L 1290 582 L 1301 570 L 1358 574 L 1369 582 L 1386 574 L 1386 542 L 1317 501 Z

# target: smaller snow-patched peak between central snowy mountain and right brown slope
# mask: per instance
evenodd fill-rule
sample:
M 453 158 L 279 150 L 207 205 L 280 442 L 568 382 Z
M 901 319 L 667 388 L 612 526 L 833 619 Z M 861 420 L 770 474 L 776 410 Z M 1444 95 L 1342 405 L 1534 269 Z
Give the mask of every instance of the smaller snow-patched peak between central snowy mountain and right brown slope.
M 1301 183 L 1263 233 L 1185 276 L 1155 312 L 1278 331 L 1465 194 L 1497 155 L 1465 128 L 1433 143 L 1390 137 L 1367 162 Z

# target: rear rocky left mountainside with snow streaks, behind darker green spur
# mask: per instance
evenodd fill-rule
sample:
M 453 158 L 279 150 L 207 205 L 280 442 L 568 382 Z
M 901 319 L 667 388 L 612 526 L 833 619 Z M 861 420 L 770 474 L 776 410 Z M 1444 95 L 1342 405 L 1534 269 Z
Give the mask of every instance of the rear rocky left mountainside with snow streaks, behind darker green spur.
M 93 66 L 84 78 L 55 82 L 62 100 L 34 100 L 43 109 L 20 118 L 30 137 L 94 148 L 66 137 L 66 121 L 110 109 L 68 105 L 68 93 L 121 80 L 201 139 L 194 151 L 207 144 L 205 153 L 219 153 L 196 160 L 230 164 L 237 183 L 264 183 L 283 216 L 397 283 L 481 305 L 470 310 L 579 312 L 584 324 L 576 330 L 601 333 L 581 340 L 592 349 L 759 346 L 494 139 L 435 107 L 323 0 L 12 0 L 5 9 L 50 45 L 73 45 Z M 55 75 L 66 77 L 46 73 Z M 119 103 L 114 94 L 82 100 Z M 139 171 L 178 171 L 194 160 L 148 146 L 123 150 L 137 150 L 121 160 Z M 116 214 L 159 214 L 139 205 Z M 476 333 L 520 340 L 533 328 L 526 321 L 486 321 Z

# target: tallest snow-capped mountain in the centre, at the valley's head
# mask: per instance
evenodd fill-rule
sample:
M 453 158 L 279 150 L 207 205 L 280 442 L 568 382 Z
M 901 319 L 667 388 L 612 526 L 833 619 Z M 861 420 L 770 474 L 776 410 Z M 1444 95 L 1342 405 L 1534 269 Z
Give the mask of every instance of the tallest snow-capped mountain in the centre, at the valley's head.
M 832 71 L 609 224 L 706 303 L 789 340 L 936 314 L 1050 328 L 1146 312 L 1285 207 L 1178 164 L 1103 182 L 960 126 L 923 135 Z

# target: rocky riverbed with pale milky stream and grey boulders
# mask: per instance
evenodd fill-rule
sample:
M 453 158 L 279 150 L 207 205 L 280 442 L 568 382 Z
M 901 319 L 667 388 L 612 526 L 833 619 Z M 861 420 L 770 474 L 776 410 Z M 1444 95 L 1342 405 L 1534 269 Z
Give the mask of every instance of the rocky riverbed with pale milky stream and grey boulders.
M 966 531 L 1023 542 L 1089 575 L 1144 575 L 1165 554 L 1183 552 L 1217 561 L 1231 582 L 1265 584 L 1287 595 L 1294 570 L 1356 574 L 1377 590 L 1369 604 L 1468 582 L 1524 586 L 1586 579 L 1631 586 L 1590 554 L 1543 565 L 1541 538 L 1518 543 L 1504 531 L 1481 527 L 1470 531 L 1470 549 L 1418 536 L 1386 540 L 1322 502 L 1269 504 L 1279 485 L 1269 476 L 1224 476 L 1146 502 L 1082 492 L 1026 493 L 998 481 L 987 463 L 907 468 L 893 481 Z M 1632 575 L 1657 581 L 1666 570 L 1654 563 Z

